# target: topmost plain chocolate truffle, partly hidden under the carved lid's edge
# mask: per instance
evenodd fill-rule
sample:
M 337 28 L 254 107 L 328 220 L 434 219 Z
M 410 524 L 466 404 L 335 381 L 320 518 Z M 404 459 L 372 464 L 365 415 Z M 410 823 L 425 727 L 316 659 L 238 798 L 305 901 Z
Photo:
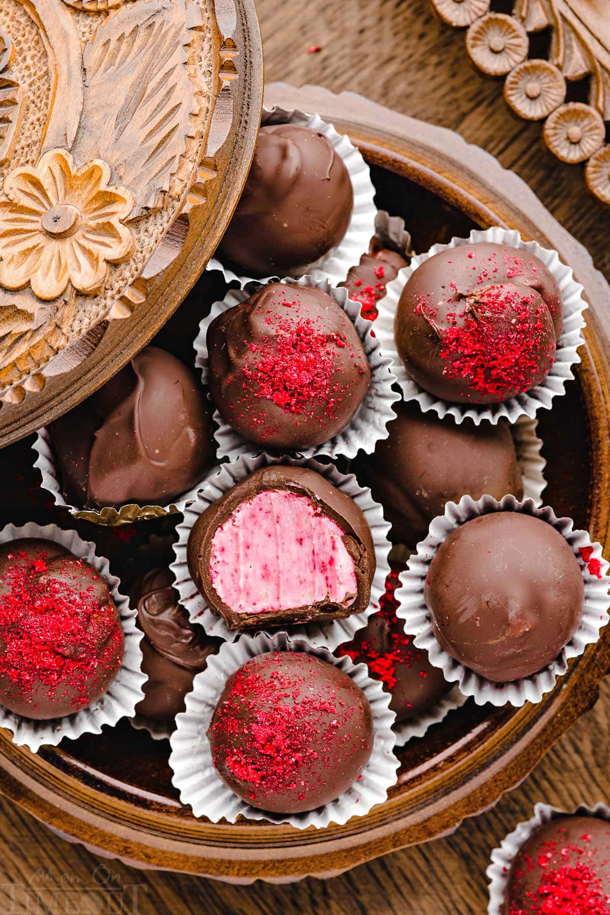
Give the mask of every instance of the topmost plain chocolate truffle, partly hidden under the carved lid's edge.
M 342 241 L 353 206 L 348 169 L 324 134 L 262 127 L 220 256 L 252 276 L 305 274 Z

